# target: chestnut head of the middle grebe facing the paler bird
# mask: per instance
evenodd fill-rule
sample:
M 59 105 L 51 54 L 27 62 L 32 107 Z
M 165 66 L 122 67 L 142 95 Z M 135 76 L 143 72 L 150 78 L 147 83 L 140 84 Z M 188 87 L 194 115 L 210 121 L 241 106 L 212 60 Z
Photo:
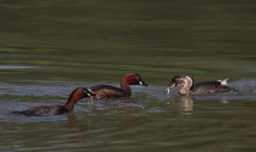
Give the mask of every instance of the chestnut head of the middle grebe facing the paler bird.
M 148 84 L 143 81 L 140 74 L 134 73 L 134 72 L 125 74 L 122 81 L 127 81 L 127 83 L 129 83 L 129 85 L 148 86 Z

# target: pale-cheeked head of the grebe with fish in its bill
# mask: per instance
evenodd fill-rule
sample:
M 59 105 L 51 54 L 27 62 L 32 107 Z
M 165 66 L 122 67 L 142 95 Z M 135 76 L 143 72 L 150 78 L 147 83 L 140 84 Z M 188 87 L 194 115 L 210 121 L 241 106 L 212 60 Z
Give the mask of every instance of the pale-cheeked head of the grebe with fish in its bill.
M 172 78 L 172 83 L 167 86 L 166 91 L 169 91 L 172 88 L 175 88 L 176 86 L 184 86 L 184 85 L 190 85 L 192 87 L 194 84 L 194 79 L 190 74 L 177 74 Z

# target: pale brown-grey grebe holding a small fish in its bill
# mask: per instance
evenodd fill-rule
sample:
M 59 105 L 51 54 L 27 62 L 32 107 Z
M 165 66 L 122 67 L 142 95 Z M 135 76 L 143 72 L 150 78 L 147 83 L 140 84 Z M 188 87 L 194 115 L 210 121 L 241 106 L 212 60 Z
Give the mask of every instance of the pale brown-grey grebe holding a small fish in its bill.
M 227 80 L 207 81 L 194 85 L 194 79 L 190 74 L 178 74 L 172 78 L 172 83 L 167 86 L 166 91 L 169 93 L 170 89 L 175 88 L 175 86 L 181 86 L 180 95 L 236 91 L 234 88 L 227 86 Z

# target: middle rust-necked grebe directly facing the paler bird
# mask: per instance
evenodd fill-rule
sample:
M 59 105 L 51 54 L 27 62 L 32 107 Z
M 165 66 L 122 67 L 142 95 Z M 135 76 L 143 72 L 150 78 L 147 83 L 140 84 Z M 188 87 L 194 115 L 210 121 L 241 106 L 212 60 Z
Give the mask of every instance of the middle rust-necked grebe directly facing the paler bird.
M 148 86 L 138 73 L 125 74 L 120 83 L 121 88 L 110 85 L 95 85 L 88 90 L 94 93 L 96 98 L 125 97 L 132 94 L 130 85 Z

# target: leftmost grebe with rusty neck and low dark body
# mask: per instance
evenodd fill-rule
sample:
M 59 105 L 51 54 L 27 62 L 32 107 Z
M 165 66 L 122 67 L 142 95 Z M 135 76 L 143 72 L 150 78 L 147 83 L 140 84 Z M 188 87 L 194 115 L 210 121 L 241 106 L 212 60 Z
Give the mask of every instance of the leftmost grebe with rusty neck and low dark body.
M 92 93 L 87 88 L 76 88 L 70 94 L 67 103 L 64 106 L 52 105 L 52 106 L 38 106 L 32 107 L 25 111 L 13 111 L 12 113 L 24 114 L 27 116 L 51 116 L 55 114 L 68 113 L 73 110 L 76 102 L 84 97 L 91 96 Z

